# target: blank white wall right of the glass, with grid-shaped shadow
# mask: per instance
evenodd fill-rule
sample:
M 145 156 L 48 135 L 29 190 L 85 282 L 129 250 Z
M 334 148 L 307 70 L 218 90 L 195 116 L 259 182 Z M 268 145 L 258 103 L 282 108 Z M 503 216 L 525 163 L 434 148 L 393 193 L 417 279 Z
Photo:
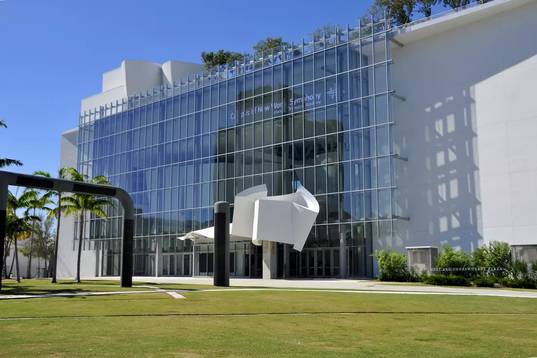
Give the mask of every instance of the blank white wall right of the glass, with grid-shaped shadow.
M 409 159 L 398 204 L 410 217 L 393 247 L 537 241 L 536 17 L 532 0 L 393 47 L 407 98 L 395 100 L 396 142 Z

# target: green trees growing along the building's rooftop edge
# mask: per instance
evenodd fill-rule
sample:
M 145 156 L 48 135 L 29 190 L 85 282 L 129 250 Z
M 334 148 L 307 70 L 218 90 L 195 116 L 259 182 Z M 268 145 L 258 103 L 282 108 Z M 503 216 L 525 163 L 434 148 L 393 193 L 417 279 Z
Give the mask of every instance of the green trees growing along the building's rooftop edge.
M 371 17 L 375 21 L 379 20 L 384 17 L 384 11 L 386 11 L 393 18 L 394 25 L 399 26 L 412 22 L 413 17 L 418 13 L 424 17 L 430 17 L 432 15 L 432 8 L 435 5 L 442 4 L 445 8 L 457 9 L 476 1 L 478 0 L 375 0 L 361 20 L 362 23 L 369 23 Z M 481 1 L 486 3 L 492 0 Z M 335 25 L 326 24 L 308 35 L 316 41 L 322 38 L 323 31 L 328 35 L 333 34 L 334 27 Z M 253 46 L 253 51 L 258 53 L 282 45 L 289 45 L 289 42 L 284 41 L 281 37 L 267 37 L 266 39 L 259 40 Z M 211 69 L 215 66 L 226 65 L 226 63 L 231 61 L 241 60 L 244 56 L 246 56 L 245 52 L 240 53 L 220 49 L 216 52 L 202 52 L 201 61 L 204 63 L 206 69 Z

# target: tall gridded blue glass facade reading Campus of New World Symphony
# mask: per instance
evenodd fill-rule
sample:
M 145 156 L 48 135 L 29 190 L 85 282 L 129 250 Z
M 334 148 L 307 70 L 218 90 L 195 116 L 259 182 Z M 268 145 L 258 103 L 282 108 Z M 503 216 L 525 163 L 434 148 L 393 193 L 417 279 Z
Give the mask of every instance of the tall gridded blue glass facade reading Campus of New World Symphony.
M 269 195 L 303 185 L 320 203 L 303 255 L 339 248 L 343 234 L 349 275 L 372 275 L 373 240 L 394 220 L 391 58 L 384 20 L 335 32 L 81 115 L 78 169 L 133 198 L 135 274 L 154 274 L 157 245 L 192 252 L 177 236 L 213 226 L 215 202 L 266 184 Z M 86 236 L 113 261 L 121 208 L 107 211 Z

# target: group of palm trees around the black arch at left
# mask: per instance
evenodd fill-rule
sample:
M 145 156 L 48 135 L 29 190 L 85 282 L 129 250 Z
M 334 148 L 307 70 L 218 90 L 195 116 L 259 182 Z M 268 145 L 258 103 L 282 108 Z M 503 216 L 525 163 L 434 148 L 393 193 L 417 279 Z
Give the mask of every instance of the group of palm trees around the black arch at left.
M 0 127 L 7 128 L 5 121 L 0 119 Z M 8 166 L 22 166 L 15 159 L 0 159 L 0 168 Z M 34 175 L 51 178 L 46 171 L 35 171 Z M 103 175 L 89 178 L 88 175 L 78 173 L 75 168 L 60 168 L 57 179 L 73 180 L 77 182 L 89 182 L 92 184 L 110 185 Z M 18 194 L 8 193 L 8 210 L 6 214 L 6 240 L 4 243 L 4 257 L 2 266 L 6 276 L 10 276 L 13 265 L 17 282 L 20 282 L 19 251 L 28 257 L 28 267 L 26 278 L 31 277 L 32 256 L 41 257 L 49 262 L 46 273 L 52 276 L 52 282 L 56 283 L 56 264 L 58 256 L 58 239 L 60 233 L 60 223 L 63 216 L 74 215 L 78 219 L 78 256 L 76 265 L 75 282 L 80 282 L 80 261 L 82 254 L 82 240 L 84 238 L 84 218 L 86 213 L 94 213 L 98 217 L 108 221 L 108 217 L 103 211 L 105 206 L 113 206 L 108 199 L 95 198 L 90 195 L 64 193 L 56 190 L 36 190 L 25 189 Z M 44 213 L 44 214 L 43 214 Z M 46 214 L 46 216 L 45 216 Z M 54 229 L 54 221 L 56 228 Z M 54 239 L 53 239 L 54 237 Z M 18 241 L 30 239 L 23 247 L 18 247 Z M 8 253 L 13 245 L 14 257 L 11 269 L 7 270 Z

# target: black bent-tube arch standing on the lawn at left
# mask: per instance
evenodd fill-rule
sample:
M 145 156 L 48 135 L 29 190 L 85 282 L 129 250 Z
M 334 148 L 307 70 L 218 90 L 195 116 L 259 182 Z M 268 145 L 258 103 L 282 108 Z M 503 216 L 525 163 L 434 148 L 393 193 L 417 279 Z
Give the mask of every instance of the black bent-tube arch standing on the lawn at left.
M 117 198 L 123 206 L 123 238 L 121 247 L 121 287 L 132 287 L 133 284 L 133 236 L 134 236 L 134 203 L 127 191 L 119 187 L 97 185 L 71 180 L 61 180 L 42 176 L 11 173 L 0 170 L 0 253 L 4 257 L 5 225 L 8 209 L 9 185 L 17 187 L 48 189 L 74 194 L 106 196 Z M 0 276 L 0 290 L 2 277 Z

